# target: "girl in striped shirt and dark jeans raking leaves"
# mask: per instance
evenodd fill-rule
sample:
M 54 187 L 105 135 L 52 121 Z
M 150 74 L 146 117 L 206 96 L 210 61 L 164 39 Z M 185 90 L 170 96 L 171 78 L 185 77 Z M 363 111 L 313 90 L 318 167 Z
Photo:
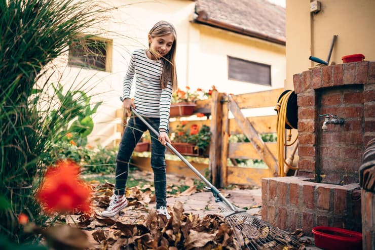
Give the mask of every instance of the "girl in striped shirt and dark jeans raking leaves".
M 148 49 L 133 52 L 123 85 L 123 107 L 128 111 L 130 108 L 136 109 L 155 130 L 159 131 L 159 137 L 150 132 L 151 166 L 154 171 L 157 213 L 166 216 L 167 219 L 170 215 L 166 207 L 165 144 L 170 143 L 167 133 L 169 110 L 172 91 L 177 89 L 176 40 L 176 31 L 172 24 L 166 21 L 156 23 L 148 32 Z M 130 91 L 134 75 L 136 92 L 132 101 Z M 138 117 L 129 119 L 116 157 L 115 194 L 101 214 L 104 217 L 116 215 L 128 204 L 124 192 L 129 159 L 146 130 L 146 125 Z

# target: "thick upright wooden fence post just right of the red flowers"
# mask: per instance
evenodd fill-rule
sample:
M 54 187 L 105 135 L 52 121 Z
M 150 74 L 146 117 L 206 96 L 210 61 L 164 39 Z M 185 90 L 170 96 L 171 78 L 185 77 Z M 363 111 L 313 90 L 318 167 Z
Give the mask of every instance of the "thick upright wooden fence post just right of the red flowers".
M 221 120 L 222 104 L 220 102 L 223 94 L 213 91 L 211 95 L 211 143 L 209 152 L 209 168 L 211 182 L 214 186 L 220 184 L 220 159 L 221 159 Z

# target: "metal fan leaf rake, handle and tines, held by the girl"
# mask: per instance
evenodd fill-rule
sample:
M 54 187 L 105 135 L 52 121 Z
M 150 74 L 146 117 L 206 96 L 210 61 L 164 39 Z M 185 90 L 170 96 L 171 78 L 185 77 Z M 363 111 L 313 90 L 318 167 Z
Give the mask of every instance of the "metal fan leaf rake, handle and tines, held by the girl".
M 132 112 L 159 137 L 159 133 L 137 111 Z M 304 249 L 293 235 L 250 215 L 246 210 L 234 206 L 220 191 L 213 186 L 194 166 L 187 161 L 170 143 L 166 146 L 177 155 L 206 185 L 218 202 L 222 216 L 232 227 L 234 235 L 244 249 Z

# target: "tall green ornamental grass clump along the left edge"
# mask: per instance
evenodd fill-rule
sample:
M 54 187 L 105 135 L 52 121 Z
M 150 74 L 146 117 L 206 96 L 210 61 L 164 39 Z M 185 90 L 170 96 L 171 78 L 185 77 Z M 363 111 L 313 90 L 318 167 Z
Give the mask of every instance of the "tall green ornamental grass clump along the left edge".
M 52 61 L 105 11 L 90 0 L 0 0 L 0 193 L 10 204 L 0 210 L 0 234 L 12 241 L 35 237 L 23 233 L 20 213 L 46 220 L 33 196 L 49 163 L 41 160 L 75 115 L 50 115 Z

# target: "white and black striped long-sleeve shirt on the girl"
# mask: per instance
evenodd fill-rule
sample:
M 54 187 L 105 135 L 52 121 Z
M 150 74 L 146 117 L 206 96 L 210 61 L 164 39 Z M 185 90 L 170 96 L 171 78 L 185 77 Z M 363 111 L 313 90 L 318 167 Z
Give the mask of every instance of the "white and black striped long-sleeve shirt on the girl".
M 160 117 L 159 131 L 167 131 L 172 85 L 168 82 L 167 88 L 160 88 L 162 72 L 162 60 L 149 59 L 145 49 L 135 50 L 124 79 L 123 98 L 130 98 L 135 75 L 134 104 L 137 112 L 145 117 Z

